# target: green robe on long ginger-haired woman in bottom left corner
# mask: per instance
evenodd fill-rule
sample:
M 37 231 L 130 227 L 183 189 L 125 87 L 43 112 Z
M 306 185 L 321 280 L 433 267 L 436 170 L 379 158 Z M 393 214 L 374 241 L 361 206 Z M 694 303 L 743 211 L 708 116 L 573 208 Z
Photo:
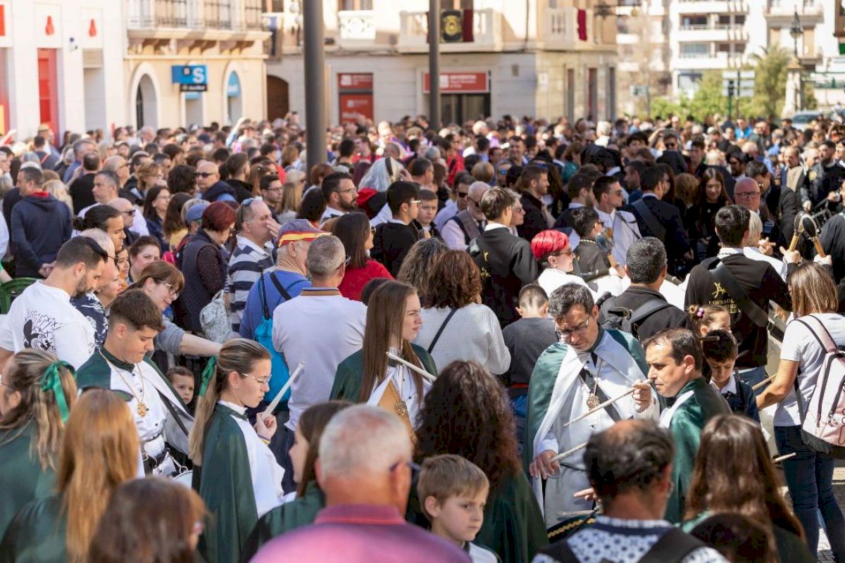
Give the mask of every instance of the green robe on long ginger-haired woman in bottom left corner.
M 30 502 L 6 529 L 0 563 L 65 563 L 67 523 L 61 496 Z

